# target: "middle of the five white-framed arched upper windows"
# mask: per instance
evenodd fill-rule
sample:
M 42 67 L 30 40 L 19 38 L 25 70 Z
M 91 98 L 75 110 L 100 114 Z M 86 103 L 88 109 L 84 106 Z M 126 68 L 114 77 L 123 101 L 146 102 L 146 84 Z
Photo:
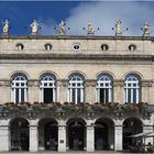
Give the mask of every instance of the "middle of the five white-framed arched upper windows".
M 78 74 L 74 74 L 69 77 L 68 101 L 75 102 L 76 105 L 84 102 L 84 77 Z

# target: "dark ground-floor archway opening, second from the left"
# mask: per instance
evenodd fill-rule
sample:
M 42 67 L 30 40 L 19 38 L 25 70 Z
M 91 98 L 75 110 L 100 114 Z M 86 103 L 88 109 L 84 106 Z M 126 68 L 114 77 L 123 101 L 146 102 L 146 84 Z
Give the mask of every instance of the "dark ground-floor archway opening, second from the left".
M 42 119 L 38 123 L 40 147 L 48 151 L 57 151 L 58 124 L 54 119 Z

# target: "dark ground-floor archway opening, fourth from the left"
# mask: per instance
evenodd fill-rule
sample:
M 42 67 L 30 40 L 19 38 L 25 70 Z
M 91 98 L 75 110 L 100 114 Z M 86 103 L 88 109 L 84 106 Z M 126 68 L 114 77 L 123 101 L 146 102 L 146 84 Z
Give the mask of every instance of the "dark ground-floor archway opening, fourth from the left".
M 98 119 L 95 123 L 95 150 L 113 150 L 114 124 L 110 119 Z

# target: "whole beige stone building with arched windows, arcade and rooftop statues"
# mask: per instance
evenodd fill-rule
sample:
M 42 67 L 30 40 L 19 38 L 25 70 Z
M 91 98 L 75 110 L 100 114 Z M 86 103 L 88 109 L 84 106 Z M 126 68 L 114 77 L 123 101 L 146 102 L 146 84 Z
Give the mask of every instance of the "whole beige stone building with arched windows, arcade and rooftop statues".
M 131 135 L 153 132 L 148 29 L 43 36 L 31 26 L 31 35 L 0 35 L 1 152 L 122 151 L 136 142 Z

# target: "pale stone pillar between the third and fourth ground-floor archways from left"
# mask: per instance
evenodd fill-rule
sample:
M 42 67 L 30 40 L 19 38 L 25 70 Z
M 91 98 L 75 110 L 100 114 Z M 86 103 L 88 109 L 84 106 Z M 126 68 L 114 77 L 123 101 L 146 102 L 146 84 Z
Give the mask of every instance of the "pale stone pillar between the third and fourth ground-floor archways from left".
M 95 151 L 95 128 L 87 125 L 87 152 Z

